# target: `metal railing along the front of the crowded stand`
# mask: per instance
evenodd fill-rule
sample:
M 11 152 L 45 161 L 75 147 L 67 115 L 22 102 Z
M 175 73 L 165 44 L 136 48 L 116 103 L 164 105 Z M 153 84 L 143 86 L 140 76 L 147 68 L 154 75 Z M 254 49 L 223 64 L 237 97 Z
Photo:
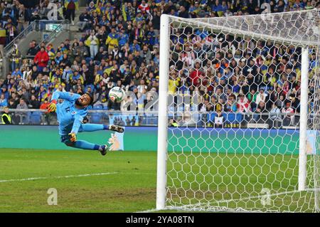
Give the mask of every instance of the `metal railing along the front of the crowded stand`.
M 55 113 L 38 109 L 9 109 L 14 125 L 58 125 Z M 2 110 L 0 109 L 0 114 Z M 215 121 L 216 112 L 176 111 L 169 114 L 177 120 L 178 127 L 221 127 L 221 128 L 277 128 L 298 129 L 299 113 L 255 113 L 255 112 L 222 112 L 222 124 Z M 157 126 L 158 111 L 137 110 L 88 110 L 88 121 L 96 124 L 123 126 Z M 311 127 L 312 119 L 309 119 Z

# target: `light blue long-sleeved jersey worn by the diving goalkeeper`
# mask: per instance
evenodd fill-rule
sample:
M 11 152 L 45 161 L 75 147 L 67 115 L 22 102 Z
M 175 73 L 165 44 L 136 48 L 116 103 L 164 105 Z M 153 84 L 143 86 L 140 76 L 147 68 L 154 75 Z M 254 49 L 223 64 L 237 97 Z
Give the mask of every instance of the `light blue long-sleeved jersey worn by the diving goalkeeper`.
M 80 96 L 73 93 L 53 93 L 51 100 L 64 100 L 62 103 L 57 104 L 57 110 L 55 111 L 58 117 L 60 135 L 67 135 L 70 132 L 78 133 L 82 120 L 87 115 L 87 107 L 83 109 L 75 107 L 75 101 Z

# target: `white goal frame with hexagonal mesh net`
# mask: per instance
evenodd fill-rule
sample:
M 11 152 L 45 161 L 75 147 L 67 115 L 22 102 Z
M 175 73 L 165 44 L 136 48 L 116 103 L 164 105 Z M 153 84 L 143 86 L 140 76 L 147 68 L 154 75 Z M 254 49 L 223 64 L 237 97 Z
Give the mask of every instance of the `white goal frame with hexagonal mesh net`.
M 320 10 L 161 16 L 157 208 L 319 212 Z

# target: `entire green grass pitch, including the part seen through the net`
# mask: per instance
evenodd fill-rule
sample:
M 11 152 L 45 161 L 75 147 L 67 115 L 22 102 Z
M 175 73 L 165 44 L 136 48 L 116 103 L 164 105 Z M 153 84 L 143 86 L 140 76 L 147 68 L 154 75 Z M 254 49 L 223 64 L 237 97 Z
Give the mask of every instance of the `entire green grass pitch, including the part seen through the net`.
M 297 188 L 296 156 L 189 154 L 169 153 L 169 206 L 250 197 L 265 187 Z M 0 149 L 0 167 L 0 212 L 137 212 L 156 206 L 156 152 L 102 157 L 76 149 Z M 50 188 L 58 192 L 58 205 L 48 205 Z M 282 194 L 270 208 L 312 211 L 310 196 Z M 265 209 L 259 198 L 220 204 L 226 205 Z

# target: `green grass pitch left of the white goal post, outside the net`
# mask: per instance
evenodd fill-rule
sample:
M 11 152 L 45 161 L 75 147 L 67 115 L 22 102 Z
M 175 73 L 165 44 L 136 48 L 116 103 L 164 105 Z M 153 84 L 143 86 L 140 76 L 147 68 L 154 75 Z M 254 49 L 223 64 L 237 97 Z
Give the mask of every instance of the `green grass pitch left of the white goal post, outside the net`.
M 156 206 L 156 152 L 0 149 L 0 212 L 135 212 Z M 107 175 L 78 176 L 81 174 Z M 57 178 L 56 176 L 71 176 Z M 4 181 L 30 179 L 28 181 Z M 58 205 L 48 205 L 55 188 Z

